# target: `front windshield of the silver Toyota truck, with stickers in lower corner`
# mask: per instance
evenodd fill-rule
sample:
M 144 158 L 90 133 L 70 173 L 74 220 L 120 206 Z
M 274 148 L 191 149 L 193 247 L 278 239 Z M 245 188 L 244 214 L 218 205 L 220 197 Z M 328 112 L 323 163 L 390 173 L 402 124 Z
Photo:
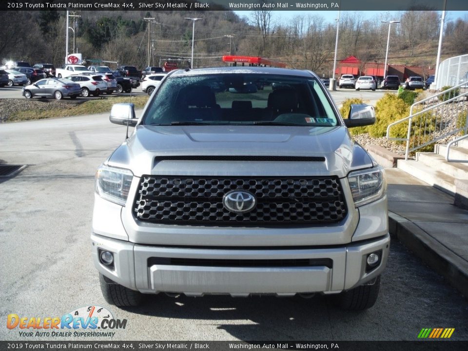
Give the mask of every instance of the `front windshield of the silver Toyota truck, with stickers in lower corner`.
M 339 124 L 322 84 L 312 77 L 207 74 L 168 77 L 141 124 Z

